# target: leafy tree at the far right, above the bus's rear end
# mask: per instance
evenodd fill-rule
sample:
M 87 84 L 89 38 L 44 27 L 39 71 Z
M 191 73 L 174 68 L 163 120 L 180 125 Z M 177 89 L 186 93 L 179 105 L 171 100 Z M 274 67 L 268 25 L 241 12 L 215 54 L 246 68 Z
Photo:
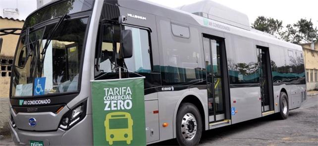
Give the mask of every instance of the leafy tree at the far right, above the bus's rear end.
M 281 38 L 294 44 L 312 43 L 318 40 L 318 30 L 312 19 L 301 18 L 296 24 L 288 24 Z

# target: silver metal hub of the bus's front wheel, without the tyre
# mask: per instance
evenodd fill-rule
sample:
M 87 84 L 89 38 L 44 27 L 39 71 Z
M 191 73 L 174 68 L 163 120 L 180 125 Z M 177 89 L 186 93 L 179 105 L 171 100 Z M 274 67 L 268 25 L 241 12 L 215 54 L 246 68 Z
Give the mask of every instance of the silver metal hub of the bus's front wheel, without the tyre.
M 185 140 L 192 140 L 197 133 L 197 120 L 192 113 L 186 113 L 181 122 L 181 133 Z

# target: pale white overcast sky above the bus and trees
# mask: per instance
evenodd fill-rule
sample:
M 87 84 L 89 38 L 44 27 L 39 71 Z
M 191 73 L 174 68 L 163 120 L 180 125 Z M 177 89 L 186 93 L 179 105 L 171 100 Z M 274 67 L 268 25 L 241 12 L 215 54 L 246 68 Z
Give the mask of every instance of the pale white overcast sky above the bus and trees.
M 178 7 L 200 0 L 149 0 L 168 7 Z M 283 25 L 294 24 L 301 18 L 312 19 L 318 27 L 318 0 L 213 0 L 247 14 L 250 23 L 257 16 L 282 20 Z M 25 19 L 37 7 L 37 0 L 0 0 L 0 15 L 3 8 L 18 8 L 19 19 Z

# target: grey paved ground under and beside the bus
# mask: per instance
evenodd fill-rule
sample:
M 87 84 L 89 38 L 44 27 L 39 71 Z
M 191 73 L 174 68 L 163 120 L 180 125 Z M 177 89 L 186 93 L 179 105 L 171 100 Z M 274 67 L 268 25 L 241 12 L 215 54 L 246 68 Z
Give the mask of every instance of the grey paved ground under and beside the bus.
M 0 138 L 1 139 L 1 138 Z M 0 146 L 13 145 L 9 137 Z M 169 140 L 155 145 L 177 145 Z M 242 122 L 203 133 L 200 146 L 318 146 L 318 95 L 291 110 L 286 120 L 273 116 Z

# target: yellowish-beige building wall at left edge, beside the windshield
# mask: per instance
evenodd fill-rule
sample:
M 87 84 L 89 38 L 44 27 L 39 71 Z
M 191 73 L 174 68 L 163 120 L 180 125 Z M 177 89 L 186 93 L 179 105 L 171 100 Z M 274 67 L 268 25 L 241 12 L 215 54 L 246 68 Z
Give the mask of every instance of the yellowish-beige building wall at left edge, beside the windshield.
M 1 28 L 22 28 L 24 21 L 0 16 Z M 0 52 L 0 97 L 9 97 L 11 67 L 18 35 L 0 36 L 3 39 Z

